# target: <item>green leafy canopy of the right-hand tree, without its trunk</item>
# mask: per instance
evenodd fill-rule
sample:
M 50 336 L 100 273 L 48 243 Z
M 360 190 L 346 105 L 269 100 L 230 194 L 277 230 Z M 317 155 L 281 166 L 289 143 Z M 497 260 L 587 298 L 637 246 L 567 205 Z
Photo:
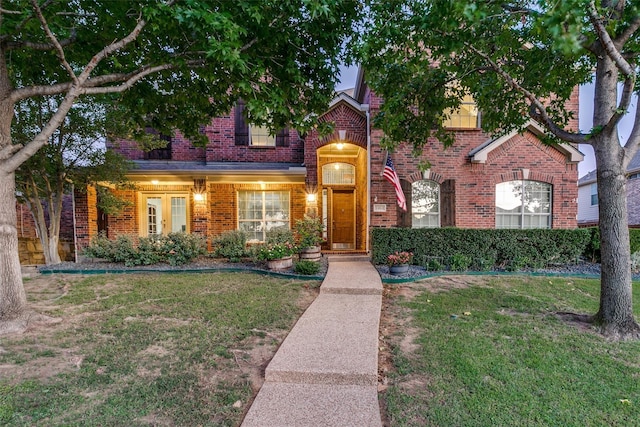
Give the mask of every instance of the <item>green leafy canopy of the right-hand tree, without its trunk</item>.
M 386 144 L 407 141 L 419 151 L 429 136 L 451 144 L 442 123 L 467 94 L 486 131 L 505 133 L 533 117 L 556 137 L 586 142 L 585 135 L 562 130 L 572 118 L 565 101 L 593 78 L 593 15 L 602 17 L 613 38 L 635 28 L 638 19 L 635 2 L 623 10 L 611 3 L 369 2 L 370 25 L 358 54 L 368 82 L 385 100 L 375 123 Z M 616 13 L 621 15 L 611 19 Z M 624 43 L 623 55 L 633 64 L 638 42 L 633 33 Z

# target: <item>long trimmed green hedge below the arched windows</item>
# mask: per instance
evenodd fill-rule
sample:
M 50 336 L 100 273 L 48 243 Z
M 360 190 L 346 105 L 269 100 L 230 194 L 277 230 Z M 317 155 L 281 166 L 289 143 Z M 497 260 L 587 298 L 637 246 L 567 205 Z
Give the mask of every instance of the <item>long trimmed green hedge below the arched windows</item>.
M 375 228 L 372 230 L 372 261 L 385 264 L 395 251 L 414 253 L 413 263 L 426 266 L 431 260 L 448 264 L 454 256 L 471 259 L 474 266 L 488 264 L 543 267 L 576 262 L 592 239 L 589 229 L 492 230 L 462 228 Z M 639 240 L 640 242 L 640 240 Z

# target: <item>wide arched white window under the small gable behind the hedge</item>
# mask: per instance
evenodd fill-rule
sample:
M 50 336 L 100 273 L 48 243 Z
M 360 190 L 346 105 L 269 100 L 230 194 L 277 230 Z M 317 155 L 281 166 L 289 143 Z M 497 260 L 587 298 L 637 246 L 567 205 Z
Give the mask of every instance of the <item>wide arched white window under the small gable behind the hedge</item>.
M 496 185 L 496 228 L 551 228 L 551 188 L 527 180 Z

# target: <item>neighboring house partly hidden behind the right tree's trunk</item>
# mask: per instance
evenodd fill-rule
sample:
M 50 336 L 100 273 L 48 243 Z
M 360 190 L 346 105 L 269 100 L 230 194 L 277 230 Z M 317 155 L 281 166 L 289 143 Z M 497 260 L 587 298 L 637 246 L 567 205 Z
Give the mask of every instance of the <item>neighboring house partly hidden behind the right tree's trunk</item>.
M 640 228 L 640 153 L 627 167 L 627 213 L 629 227 Z M 578 180 L 578 226 L 598 225 L 598 183 L 592 170 Z

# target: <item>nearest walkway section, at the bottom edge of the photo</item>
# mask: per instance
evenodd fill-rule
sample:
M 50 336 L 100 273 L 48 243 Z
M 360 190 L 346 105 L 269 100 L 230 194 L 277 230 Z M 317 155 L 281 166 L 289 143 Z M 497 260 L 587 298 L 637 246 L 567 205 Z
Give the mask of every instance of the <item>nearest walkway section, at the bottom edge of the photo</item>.
M 382 427 L 377 387 L 265 383 L 243 427 Z

